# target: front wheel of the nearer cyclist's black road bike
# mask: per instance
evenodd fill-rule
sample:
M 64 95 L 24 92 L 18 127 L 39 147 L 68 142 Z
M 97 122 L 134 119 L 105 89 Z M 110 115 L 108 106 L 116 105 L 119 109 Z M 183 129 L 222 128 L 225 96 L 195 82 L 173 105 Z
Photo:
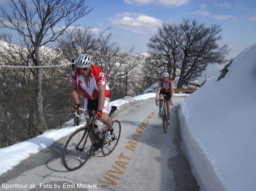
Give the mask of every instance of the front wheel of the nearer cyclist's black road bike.
M 76 130 L 67 140 L 62 154 L 63 165 L 67 170 L 81 168 L 90 158 L 94 137 L 88 128 Z

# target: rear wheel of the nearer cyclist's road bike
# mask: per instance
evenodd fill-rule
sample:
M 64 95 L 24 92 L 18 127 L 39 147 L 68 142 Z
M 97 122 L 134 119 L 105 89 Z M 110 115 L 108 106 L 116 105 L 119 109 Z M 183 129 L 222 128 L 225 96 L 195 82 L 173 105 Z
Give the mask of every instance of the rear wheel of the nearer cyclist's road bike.
M 105 143 L 106 134 L 104 135 L 101 152 L 104 156 L 108 156 L 115 148 L 121 135 L 121 123 L 118 120 L 113 120 L 113 137 L 109 142 Z

